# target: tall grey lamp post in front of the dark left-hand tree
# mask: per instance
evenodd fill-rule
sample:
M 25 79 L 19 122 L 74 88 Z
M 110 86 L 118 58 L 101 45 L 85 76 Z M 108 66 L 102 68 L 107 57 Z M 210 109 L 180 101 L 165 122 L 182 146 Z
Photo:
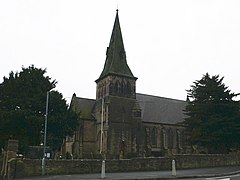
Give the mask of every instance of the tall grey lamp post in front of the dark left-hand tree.
M 47 115 L 48 115 L 48 98 L 49 91 L 47 91 L 47 99 L 46 99 L 46 114 L 45 114 L 45 125 L 44 125 L 44 139 L 43 139 L 43 158 L 42 158 L 42 176 L 45 175 L 45 154 L 46 154 L 46 139 L 47 139 Z

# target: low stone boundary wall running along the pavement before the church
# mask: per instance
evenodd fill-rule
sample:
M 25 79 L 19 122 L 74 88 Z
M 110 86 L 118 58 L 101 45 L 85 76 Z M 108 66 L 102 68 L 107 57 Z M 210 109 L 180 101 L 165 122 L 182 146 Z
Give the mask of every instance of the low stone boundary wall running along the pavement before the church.
M 107 172 L 171 170 L 172 160 L 177 169 L 240 165 L 240 155 L 176 155 L 159 158 L 106 160 Z M 41 175 L 41 160 L 17 159 L 9 162 L 10 177 Z M 47 160 L 46 174 L 100 173 L 101 160 Z

